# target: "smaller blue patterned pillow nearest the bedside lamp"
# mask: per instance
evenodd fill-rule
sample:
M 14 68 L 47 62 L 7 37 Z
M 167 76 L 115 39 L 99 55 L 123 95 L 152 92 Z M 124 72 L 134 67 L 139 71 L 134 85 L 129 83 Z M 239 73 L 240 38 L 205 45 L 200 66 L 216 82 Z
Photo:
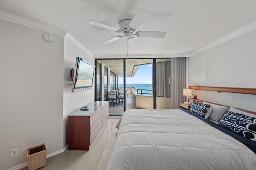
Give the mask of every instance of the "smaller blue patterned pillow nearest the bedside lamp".
M 189 110 L 191 113 L 194 113 L 200 117 L 204 117 L 207 119 L 211 112 L 212 112 L 212 105 L 210 104 L 203 104 L 200 102 L 193 102 L 192 106 L 190 107 Z

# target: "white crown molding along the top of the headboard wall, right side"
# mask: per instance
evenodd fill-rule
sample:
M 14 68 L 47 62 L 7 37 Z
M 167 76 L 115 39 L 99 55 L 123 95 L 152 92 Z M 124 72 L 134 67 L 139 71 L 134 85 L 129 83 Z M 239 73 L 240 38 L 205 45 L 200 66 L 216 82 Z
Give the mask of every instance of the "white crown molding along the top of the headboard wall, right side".
M 220 38 L 220 39 L 217 39 L 216 41 L 213 41 L 212 43 L 208 44 L 208 45 L 205 45 L 204 47 L 201 47 L 200 49 L 197 49 L 193 52 L 190 53 L 190 57 L 194 56 L 194 55 L 197 55 L 199 53 L 202 53 L 208 49 L 212 49 L 220 44 L 223 44 L 227 41 L 230 41 L 231 39 L 234 39 L 236 37 L 239 37 L 245 33 L 248 33 L 252 30 L 256 29 L 256 21 L 253 21 L 251 23 L 249 23 L 248 25 L 245 25 L 244 27 L 240 28 L 240 29 L 237 29 L 236 31 Z

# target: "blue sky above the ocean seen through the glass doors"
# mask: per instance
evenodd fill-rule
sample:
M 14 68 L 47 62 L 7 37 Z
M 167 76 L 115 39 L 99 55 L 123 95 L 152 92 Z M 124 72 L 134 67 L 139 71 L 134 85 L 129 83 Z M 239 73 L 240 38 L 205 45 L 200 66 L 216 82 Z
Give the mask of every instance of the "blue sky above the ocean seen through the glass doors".
M 118 76 L 118 84 L 124 84 L 124 77 Z M 126 77 L 126 84 L 152 84 L 152 63 L 139 66 L 133 77 Z

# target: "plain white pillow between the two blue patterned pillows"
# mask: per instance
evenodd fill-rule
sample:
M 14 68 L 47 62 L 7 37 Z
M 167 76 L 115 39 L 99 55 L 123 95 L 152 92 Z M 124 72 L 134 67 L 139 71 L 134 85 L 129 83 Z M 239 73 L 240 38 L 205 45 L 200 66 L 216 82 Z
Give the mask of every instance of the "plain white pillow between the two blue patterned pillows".
M 210 104 L 208 102 L 203 102 L 203 104 Z M 228 107 L 226 106 L 219 106 L 216 104 L 210 104 L 212 105 L 212 113 L 208 117 L 208 119 L 219 122 L 220 119 L 223 117 L 223 115 L 227 112 Z

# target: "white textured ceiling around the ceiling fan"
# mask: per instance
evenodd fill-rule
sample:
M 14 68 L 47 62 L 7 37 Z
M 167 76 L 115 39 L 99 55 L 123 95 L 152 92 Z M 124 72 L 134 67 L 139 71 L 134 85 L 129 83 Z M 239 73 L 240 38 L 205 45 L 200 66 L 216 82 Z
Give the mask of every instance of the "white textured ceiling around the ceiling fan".
M 127 40 L 100 44 L 122 35 L 90 25 L 113 27 L 132 19 L 141 8 L 150 12 L 136 31 L 166 31 L 164 39 L 135 37 L 129 54 L 182 54 L 195 51 L 256 20 L 255 0 L 0 0 L 0 10 L 64 29 L 94 55 L 126 55 Z

